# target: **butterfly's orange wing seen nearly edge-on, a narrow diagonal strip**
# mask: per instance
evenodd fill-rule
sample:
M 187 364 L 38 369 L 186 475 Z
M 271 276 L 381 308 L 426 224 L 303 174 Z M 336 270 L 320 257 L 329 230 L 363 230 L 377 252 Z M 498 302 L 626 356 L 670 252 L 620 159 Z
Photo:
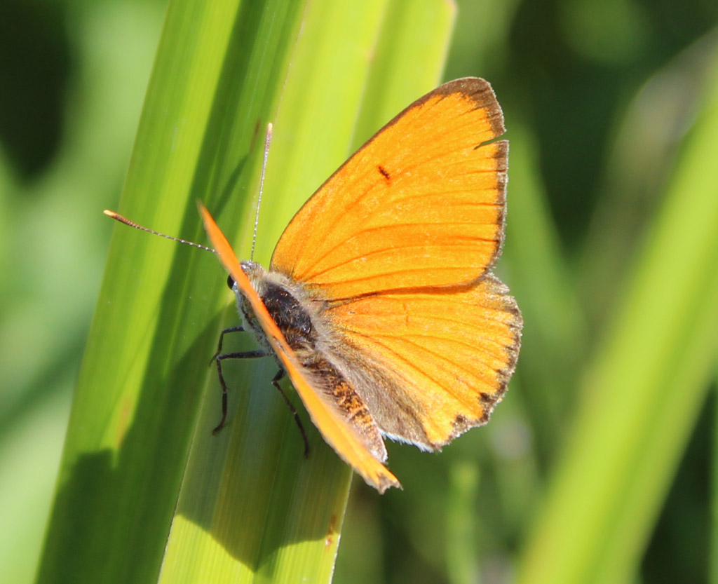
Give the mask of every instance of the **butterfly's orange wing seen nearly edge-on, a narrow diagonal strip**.
M 205 231 L 207 231 L 220 261 L 231 274 L 243 295 L 249 300 L 269 343 L 279 357 L 287 374 L 289 374 L 289 379 L 292 380 L 294 388 L 297 389 L 299 397 L 302 398 L 302 402 L 304 402 L 304 406 L 312 417 L 314 425 L 319 428 L 325 440 L 345 462 L 352 466 L 367 483 L 375 487 L 380 493 L 383 493 L 391 486 L 400 486 L 396 477 L 373 457 L 360 437 L 352 430 L 352 427 L 337 414 L 335 410 L 336 404 L 330 402 L 324 394 L 312 389 L 312 385 L 307 381 L 307 375 L 297 362 L 292 348 L 286 343 L 284 335 L 277 328 L 264 303 L 252 287 L 246 274 L 242 271 L 239 260 L 227 238 L 220 231 L 209 211 L 201 204 L 199 206 L 202 221 L 205 224 Z

